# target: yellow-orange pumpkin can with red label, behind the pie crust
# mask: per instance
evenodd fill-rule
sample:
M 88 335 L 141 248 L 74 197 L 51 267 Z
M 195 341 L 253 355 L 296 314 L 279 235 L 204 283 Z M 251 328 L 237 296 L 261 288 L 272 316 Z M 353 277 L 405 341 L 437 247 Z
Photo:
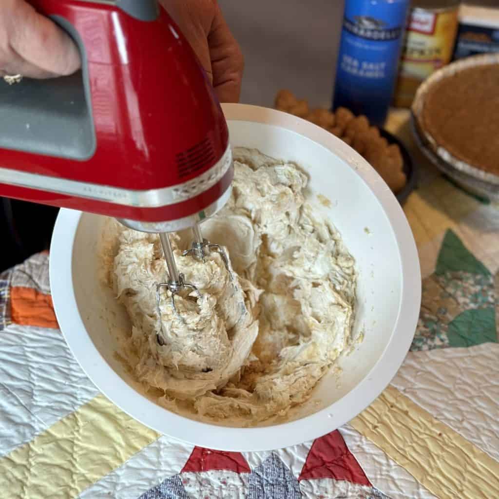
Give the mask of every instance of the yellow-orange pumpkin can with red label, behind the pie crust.
M 410 107 L 421 82 L 451 61 L 459 4 L 459 0 L 416 0 L 411 4 L 394 95 L 396 106 Z

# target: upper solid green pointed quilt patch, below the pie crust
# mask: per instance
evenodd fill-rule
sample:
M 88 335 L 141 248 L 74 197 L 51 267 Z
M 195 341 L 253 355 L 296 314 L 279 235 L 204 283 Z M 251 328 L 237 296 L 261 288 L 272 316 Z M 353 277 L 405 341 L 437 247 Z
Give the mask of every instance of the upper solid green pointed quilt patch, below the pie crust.
M 459 271 L 491 275 L 489 269 L 480 260 L 477 260 L 456 234 L 449 229 L 440 249 L 435 273 L 443 275 L 445 272 Z

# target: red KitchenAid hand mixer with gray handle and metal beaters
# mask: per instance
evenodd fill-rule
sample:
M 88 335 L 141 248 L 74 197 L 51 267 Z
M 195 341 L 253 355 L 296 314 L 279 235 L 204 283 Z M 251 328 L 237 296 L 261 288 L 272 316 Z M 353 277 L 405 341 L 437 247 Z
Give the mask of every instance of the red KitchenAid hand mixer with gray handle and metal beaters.
M 203 259 L 220 250 L 198 224 L 230 196 L 227 123 L 179 28 L 156 0 L 30 0 L 70 33 L 82 70 L 0 85 L 0 196 L 117 218 L 159 233 L 169 278 L 169 232 L 193 228 Z M 1 82 L 3 83 L 3 82 Z M 222 254 L 225 261 L 227 258 Z

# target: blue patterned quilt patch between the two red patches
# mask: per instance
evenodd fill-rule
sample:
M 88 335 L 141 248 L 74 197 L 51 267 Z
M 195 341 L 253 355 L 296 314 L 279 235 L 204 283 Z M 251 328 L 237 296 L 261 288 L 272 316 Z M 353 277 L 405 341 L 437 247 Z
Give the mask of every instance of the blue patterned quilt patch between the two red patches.
M 249 476 L 248 499 L 301 499 L 298 480 L 272 454 Z

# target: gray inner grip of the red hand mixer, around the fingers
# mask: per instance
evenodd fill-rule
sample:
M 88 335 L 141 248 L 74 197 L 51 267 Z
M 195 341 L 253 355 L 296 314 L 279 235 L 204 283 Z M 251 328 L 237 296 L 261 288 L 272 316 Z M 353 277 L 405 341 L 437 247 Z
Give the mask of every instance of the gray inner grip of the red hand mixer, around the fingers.
M 79 46 L 82 71 L 11 86 L 0 79 L 0 148 L 83 161 L 96 148 L 85 47 L 66 19 L 52 19 Z

